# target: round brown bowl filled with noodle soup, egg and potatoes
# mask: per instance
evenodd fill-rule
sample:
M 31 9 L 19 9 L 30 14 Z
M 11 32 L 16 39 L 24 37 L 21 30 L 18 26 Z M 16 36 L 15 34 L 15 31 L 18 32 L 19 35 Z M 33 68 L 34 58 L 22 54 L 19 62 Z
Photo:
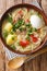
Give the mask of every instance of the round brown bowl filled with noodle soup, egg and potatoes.
M 47 40 L 45 13 L 32 4 L 17 4 L 2 15 L 0 36 L 4 46 L 15 54 L 32 54 Z

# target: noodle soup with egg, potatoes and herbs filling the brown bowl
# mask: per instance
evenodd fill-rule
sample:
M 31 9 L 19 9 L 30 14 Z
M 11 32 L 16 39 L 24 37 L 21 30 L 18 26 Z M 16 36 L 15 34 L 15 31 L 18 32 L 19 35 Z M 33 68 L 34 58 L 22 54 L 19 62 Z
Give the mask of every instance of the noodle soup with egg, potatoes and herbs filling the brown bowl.
M 7 14 L 2 25 L 2 36 L 10 48 L 24 52 L 42 44 L 46 28 L 43 16 L 37 11 L 19 8 Z

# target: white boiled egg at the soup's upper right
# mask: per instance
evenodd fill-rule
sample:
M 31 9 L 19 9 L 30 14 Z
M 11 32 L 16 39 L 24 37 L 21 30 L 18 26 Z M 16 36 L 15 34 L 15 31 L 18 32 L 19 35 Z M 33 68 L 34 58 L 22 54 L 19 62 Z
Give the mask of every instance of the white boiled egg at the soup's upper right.
M 35 28 L 40 28 L 44 26 L 44 21 L 36 14 L 31 16 L 31 24 Z

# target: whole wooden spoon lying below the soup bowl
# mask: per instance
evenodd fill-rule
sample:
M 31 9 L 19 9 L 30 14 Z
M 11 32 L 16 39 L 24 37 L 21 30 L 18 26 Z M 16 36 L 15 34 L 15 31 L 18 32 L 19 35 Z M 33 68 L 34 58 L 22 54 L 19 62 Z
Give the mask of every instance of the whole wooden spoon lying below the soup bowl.
M 26 62 L 28 59 L 33 59 L 44 52 L 47 51 L 47 47 L 44 47 L 43 49 L 39 49 L 37 52 L 32 54 L 31 56 L 26 57 L 15 57 L 12 60 L 8 62 L 8 67 L 11 69 L 17 69 L 20 68 L 24 62 Z

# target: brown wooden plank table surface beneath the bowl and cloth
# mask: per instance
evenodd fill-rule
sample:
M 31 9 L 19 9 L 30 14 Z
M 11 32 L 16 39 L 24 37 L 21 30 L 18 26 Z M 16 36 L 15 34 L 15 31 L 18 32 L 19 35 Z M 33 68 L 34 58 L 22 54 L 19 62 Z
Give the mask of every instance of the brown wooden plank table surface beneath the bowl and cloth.
M 0 16 L 4 13 L 7 9 L 17 3 L 31 3 L 33 0 L 0 0 Z M 38 2 L 40 2 L 38 0 Z M 42 2 L 44 5 L 45 2 Z M 46 4 L 45 4 L 46 7 Z M 47 10 L 47 8 L 46 8 Z M 47 11 L 45 12 L 47 13 Z M 30 60 L 24 63 L 21 68 L 16 70 L 12 70 L 8 68 L 8 58 L 5 56 L 5 51 L 3 50 L 3 46 L 0 40 L 0 71 L 47 71 L 47 52 Z

